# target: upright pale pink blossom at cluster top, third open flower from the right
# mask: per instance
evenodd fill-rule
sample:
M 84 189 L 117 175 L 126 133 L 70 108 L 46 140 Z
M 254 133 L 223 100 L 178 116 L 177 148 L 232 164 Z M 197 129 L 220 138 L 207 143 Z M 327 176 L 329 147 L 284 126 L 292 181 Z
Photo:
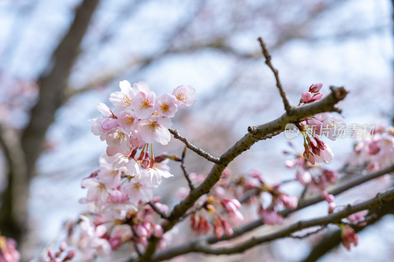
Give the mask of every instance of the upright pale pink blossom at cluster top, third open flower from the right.
M 144 119 L 155 112 L 156 94 L 152 92 L 148 84 L 139 81 L 133 85 L 136 90 L 135 98 L 131 103 L 131 109 L 139 119 Z

